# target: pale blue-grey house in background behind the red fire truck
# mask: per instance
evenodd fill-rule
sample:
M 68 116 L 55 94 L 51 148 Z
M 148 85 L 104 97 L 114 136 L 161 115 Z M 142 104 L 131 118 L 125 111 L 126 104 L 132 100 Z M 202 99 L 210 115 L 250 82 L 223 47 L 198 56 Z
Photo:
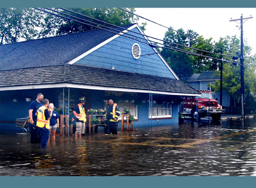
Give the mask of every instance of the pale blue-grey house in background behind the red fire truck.
M 220 99 L 220 92 L 215 92 L 209 84 L 215 84 L 216 81 L 220 81 L 220 76 L 215 75 L 215 71 L 202 71 L 199 74 L 193 74 L 190 78 L 186 79 L 186 82 L 197 90 L 210 90 L 213 96 L 217 98 L 218 102 Z M 222 106 L 230 106 L 230 95 L 227 91 L 223 91 Z

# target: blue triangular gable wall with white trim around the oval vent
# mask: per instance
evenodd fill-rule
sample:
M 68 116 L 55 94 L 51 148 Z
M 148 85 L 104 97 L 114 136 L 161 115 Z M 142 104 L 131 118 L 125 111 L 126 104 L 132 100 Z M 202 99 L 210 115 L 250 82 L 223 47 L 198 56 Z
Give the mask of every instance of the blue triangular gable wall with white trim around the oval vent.
M 88 52 L 71 61 L 70 64 L 84 64 L 178 79 L 155 48 L 149 46 L 150 41 L 142 35 L 143 32 L 138 25 L 133 25 L 128 30 L 130 31 L 116 34 L 102 42 L 102 44 L 88 50 Z M 132 46 L 135 43 L 141 49 L 139 59 L 135 59 L 132 55 Z

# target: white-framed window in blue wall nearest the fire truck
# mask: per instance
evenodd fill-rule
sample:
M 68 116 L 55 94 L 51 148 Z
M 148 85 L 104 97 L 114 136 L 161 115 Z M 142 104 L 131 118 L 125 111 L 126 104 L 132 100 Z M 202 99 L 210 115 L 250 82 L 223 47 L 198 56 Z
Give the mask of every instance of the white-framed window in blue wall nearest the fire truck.
M 170 103 L 157 104 L 153 103 L 153 109 L 149 109 L 149 118 L 153 112 L 152 118 L 171 118 L 172 105 Z

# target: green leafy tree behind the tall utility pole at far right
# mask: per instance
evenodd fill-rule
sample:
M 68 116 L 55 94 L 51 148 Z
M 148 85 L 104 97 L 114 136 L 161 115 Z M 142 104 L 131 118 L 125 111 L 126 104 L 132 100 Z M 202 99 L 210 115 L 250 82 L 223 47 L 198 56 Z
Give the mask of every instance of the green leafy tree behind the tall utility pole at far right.
M 216 43 L 218 46 L 224 46 L 224 53 L 236 56 L 235 52 L 239 52 L 240 50 L 240 40 L 237 39 L 236 36 L 226 38 L 220 38 L 219 42 Z M 247 46 L 247 42 L 245 41 L 244 47 L 244 66 L 245 66 L 245 103 L 247 106 L 247 112 L 255 110 L 256 104 L 256 58 L 254 56 L 250 56 L 251 47 Z M 227 60 L 232 60 L 232 57 L 225 57 Z M 238 65 L 232 63 L 225 63 L 223 65 L 223 90 L 229 92 L 229 95 L 232 97 L 234 104 L 232 105 L 240 105 L 240 66 L 239 59 L 237 60 Z M 216 75 L 220 76 L 220 71 L 216 71 Z M 220 90 L 220 82 L 216 81 L 215 85 L 211 85 L 216 92 Z M 231 100 L 231 101 L 232 101 Z

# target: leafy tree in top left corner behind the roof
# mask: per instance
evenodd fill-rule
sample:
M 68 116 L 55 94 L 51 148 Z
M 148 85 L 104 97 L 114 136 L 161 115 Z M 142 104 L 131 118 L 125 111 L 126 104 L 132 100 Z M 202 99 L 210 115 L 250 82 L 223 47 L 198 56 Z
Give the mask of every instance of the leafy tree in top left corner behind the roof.
M 0 9 L 0 45 L 31 40 L 38 35 L 40 13 L 33 9 Z

